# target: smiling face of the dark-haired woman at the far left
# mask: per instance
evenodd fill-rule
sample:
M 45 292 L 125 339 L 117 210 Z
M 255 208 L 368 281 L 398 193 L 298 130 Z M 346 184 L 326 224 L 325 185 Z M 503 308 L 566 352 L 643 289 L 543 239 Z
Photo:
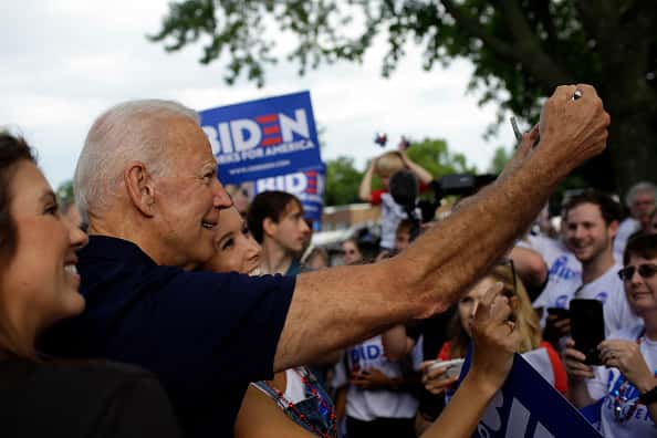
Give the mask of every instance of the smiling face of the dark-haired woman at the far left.
M 75 251 L 87 237 L 60 215 L 52 188 L 33 163 L 17 163 L 9 190 L 17 248 L 1 275 L 2 302 L 42 330 L 84 309 Z

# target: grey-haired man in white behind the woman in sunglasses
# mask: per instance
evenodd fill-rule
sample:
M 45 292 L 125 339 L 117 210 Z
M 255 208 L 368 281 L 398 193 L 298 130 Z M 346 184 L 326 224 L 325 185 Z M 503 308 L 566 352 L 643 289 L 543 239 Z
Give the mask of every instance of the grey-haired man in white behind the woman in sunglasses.
M 618 263 L 623 261 L 623 251 L 627 239 L 642 227 L 645 227 L 655 209 L 657 199 L 657 187 L 653 182 L 640 181 L 635 184 L 627 191 L 625 205 L 629 209 L 629 218 L 618 226 L 616 239 L 614 239 L 614 258 Z

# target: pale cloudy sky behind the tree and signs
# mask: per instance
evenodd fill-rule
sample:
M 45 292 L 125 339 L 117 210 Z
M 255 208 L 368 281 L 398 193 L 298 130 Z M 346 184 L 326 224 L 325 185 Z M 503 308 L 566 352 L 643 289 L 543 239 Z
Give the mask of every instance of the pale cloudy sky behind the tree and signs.
M 279 62 L 258 88 L 246 80 L 223 82 L 226 59 L 198 63 L 200 45 L 174 54 L 152 43 L 168 10 L 167 0 L 2 1 L 0 2 L 0 125 L 35 147 L 39 163 L 56 187 L 71 178 L 94 118 L 132 98 L 169 98 L 195 109 L 310 90 L 321 134 L 322 158 L 353 157 L 361 170 L 401 135 L 442 138 L 484 171 L 494 149 L 513 144 L 510 126 L 483 139 L 496 106 L 477 105 L 467 92 L 472 66 L 421 69 L 421 51 L 408 55 L 392 77 L 380 75 L 385 43 L 377 41 L 363 64 L 322 65 L 298 76 L 298 65 Z M 290 40 L 278 51 L 288 53 Z

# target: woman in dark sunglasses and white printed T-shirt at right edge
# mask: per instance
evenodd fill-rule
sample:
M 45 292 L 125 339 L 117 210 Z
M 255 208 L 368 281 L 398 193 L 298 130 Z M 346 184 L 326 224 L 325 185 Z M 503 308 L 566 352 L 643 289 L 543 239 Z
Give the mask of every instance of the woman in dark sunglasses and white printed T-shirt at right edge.
M 598 403 L 605 437 L 657 437 L 657 236 L 630 239 L 623 262 L 618 275 L 644 323 L 603 341 L 598 367 L 584 364 L 584 354 L 570 341 L 564 351 L 569 398 L 577 407 Z

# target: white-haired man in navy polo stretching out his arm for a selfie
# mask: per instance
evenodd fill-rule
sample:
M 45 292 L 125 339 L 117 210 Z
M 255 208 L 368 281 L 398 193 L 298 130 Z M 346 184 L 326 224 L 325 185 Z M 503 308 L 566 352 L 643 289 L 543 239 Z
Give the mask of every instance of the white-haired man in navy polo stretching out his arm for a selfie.
M 230 436 L 250 380 L 458 300 L 557 182 L 604 149 L 608 123 L 593 87 L 561 86 L 543 107 L 541 146 L 532 149 L 539 128 L 525 134 L 494 185 L 403 254 L 253 279 L 192 271 L 211 257 L 212 228 L 231 204 L 196 115 L 164 101 L 117 105 L 93 124 L 75 171 L 91 234 L 79 263 L 87 310 L 43 345 L 142 365 L 163 380 L 189 436 Z

